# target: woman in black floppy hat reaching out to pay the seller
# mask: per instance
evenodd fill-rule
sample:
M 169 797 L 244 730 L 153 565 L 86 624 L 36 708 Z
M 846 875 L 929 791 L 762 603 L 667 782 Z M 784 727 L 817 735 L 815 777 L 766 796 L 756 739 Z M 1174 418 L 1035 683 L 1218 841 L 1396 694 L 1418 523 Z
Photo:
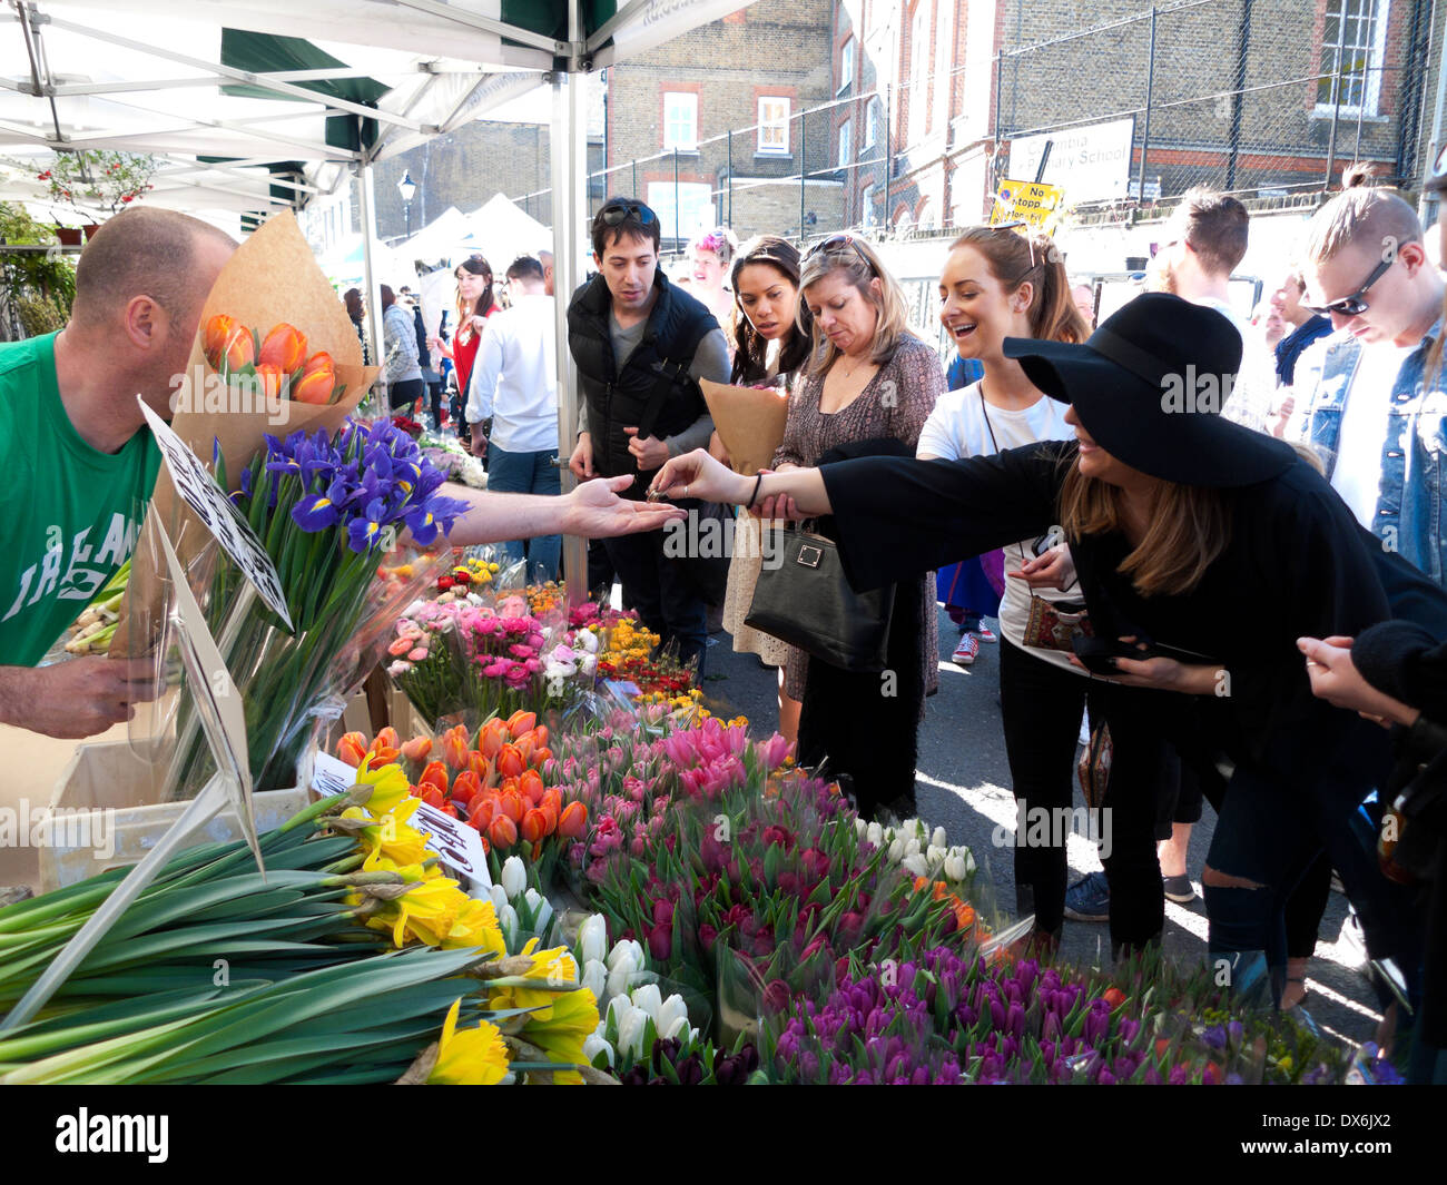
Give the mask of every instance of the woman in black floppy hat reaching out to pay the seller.
M 1279 998 L 1282 904 L 1323 848 L 1372 953 L 1414 967 L 1404 901 L 1350 831 L 1389 768 L 1380 729 L 1312 697 L 1297 638 L 1351 635 L 1393 606 L 1447 625 L 1447 596 L 1382 553 L 1289 446 L 1217 414 L 1242 357 L 1221 314 L 1149 294 L 1084 344 L 1007 339 L 1004 353 L 1072 404 L 1077 440 L 761 479 L 692 453 L 664 466 L 654 488 L 687 485 L 765 517 L 832 514 L 857 589 L 1059 522 L 1103 651 L 1087 661 L 1113 680 L 1111 732 L 1169 741 L 1220 815 L 1202 875 L 1217 967 L 1237 990 Z M 1150 751 L 1120 747 L 1130 760 Z M 1229 780 L 1223 765 L 1233 767 Z M 1119 951 L 1153 940 L 1163 922 L 1149 771 L 1113 768 L 1106 806 Z

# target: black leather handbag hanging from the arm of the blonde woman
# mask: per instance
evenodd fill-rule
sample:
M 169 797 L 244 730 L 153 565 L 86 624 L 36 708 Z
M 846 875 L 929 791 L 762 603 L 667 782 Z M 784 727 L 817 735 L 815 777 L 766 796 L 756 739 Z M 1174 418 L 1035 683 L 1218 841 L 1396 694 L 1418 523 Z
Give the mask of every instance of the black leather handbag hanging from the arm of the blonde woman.
M 765 558 L 744 624 L 831 667 L 884 670 L 894 586 L 858 593 L 832 540 L 797 527 L 780 535 L 780 545 L 768 550 L 777 558 Z

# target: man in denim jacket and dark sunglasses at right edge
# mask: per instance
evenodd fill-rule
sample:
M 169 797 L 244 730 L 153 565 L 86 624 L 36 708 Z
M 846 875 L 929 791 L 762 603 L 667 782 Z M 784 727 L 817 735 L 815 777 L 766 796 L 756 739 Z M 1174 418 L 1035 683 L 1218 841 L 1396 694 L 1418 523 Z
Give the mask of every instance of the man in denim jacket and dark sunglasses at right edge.
M 1430 365 L 1443 279 L 1412 207 L 1366 179 L 1350 171 L 1308 227 L 1304 304 L 1330 317 L 1336 334 L 1298 363 L 1292 427 L 1382 547 L 1447 585 L 1447 391 Z

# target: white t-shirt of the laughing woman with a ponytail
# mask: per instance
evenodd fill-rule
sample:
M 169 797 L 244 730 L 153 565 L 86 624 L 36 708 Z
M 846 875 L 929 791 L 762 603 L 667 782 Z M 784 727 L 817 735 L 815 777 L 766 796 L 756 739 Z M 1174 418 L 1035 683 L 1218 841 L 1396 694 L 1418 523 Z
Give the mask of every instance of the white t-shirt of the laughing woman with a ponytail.
M 941 395 L 935 409 L 925 421 L 919 434 L 917 456 L 988 457 L 1006 449 L 1036 444 L 1042 440 L 1074 440 L 1075 430 L 1065 422 L 1066 404 L 1042 395 L 1030 407 L 1020 411 L 1006 411 L 987 405 L 980 395 L 980 383 L 974 382 L 959 391 Z M 993 436 L 991 436 L 993 430 Z M 996 447 L 998 444 L 998 447 Z M 1004 548 L 1004 567 L 1011 572 L 1035 558 L 1035 540 L 1011 543 Z M 1079 589 L 1061 592 L 1058 589 L 1036 589 L 1036 596 L 1046 600 L 1079 600 Z M 1000 632 L 1014 645 L 1024 647 L 1024 627 L 1030 621 L 1030 586 L 1014 576 L 1004 579 L 1004 596 L 1000 600 Z M 1064 651 L 1029 647 L 1036 658 L 1055 663 L 1069 671 L 1081 673 L 1071 666 Z

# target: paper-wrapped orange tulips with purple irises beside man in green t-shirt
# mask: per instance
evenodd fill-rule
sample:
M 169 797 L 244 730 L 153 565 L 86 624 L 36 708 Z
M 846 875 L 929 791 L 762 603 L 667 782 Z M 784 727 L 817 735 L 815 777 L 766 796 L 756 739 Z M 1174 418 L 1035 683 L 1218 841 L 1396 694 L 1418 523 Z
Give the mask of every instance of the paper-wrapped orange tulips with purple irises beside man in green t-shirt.
M 464 504 L 441 493 L 443 475 L 407 433 L 347 418 L 375 370 L 360 365 L 352 323 L 289 216 L 268 221 L 223 269 L 192 372 L 190 389 L 204 399 L 179 407 L 172 427 L 210 459 L 260 541 L 289 627 L 198 524 L 187 525 L 178 499 L 158 488 L 155 511 L 171 515 L 178 551 L 197 561 L 191 583 L 245 703 L 255 789 L 304 784 L 298 763 L 436 579 L 443 534 Z M 187 687 L 175 744 L 164 799 L 194 796 L 214 768 Z

